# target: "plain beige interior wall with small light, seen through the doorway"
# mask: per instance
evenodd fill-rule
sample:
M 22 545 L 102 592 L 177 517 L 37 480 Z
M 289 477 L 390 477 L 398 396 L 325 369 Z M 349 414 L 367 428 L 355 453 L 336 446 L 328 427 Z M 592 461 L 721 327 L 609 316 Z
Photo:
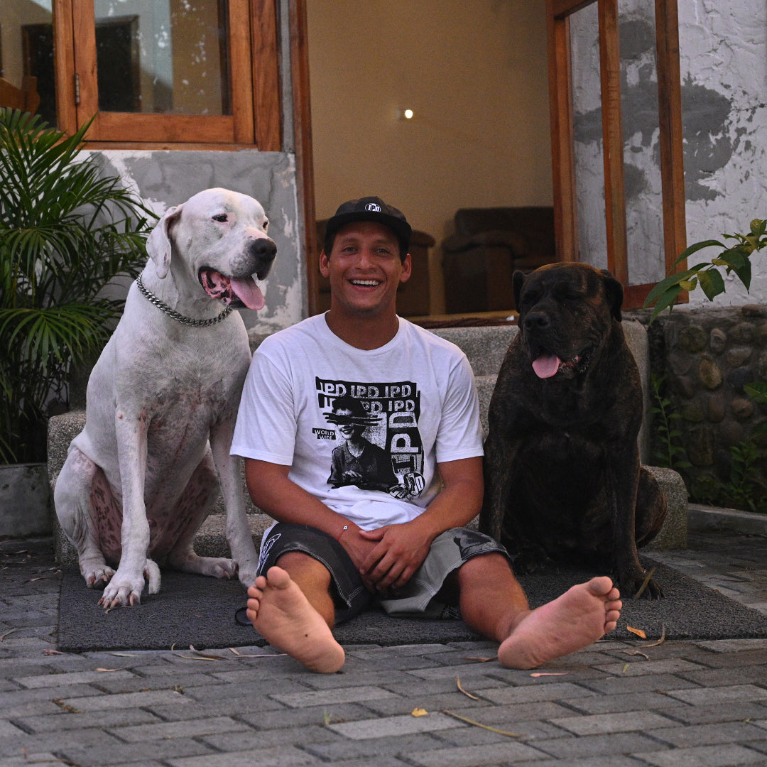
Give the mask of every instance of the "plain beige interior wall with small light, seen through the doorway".
M 318 218 L 378 194 L 439 243 L 460 207 L 551 205 L 543 0 L 308 0 Z M 410 107 L 413 120 L 398 120 Z

